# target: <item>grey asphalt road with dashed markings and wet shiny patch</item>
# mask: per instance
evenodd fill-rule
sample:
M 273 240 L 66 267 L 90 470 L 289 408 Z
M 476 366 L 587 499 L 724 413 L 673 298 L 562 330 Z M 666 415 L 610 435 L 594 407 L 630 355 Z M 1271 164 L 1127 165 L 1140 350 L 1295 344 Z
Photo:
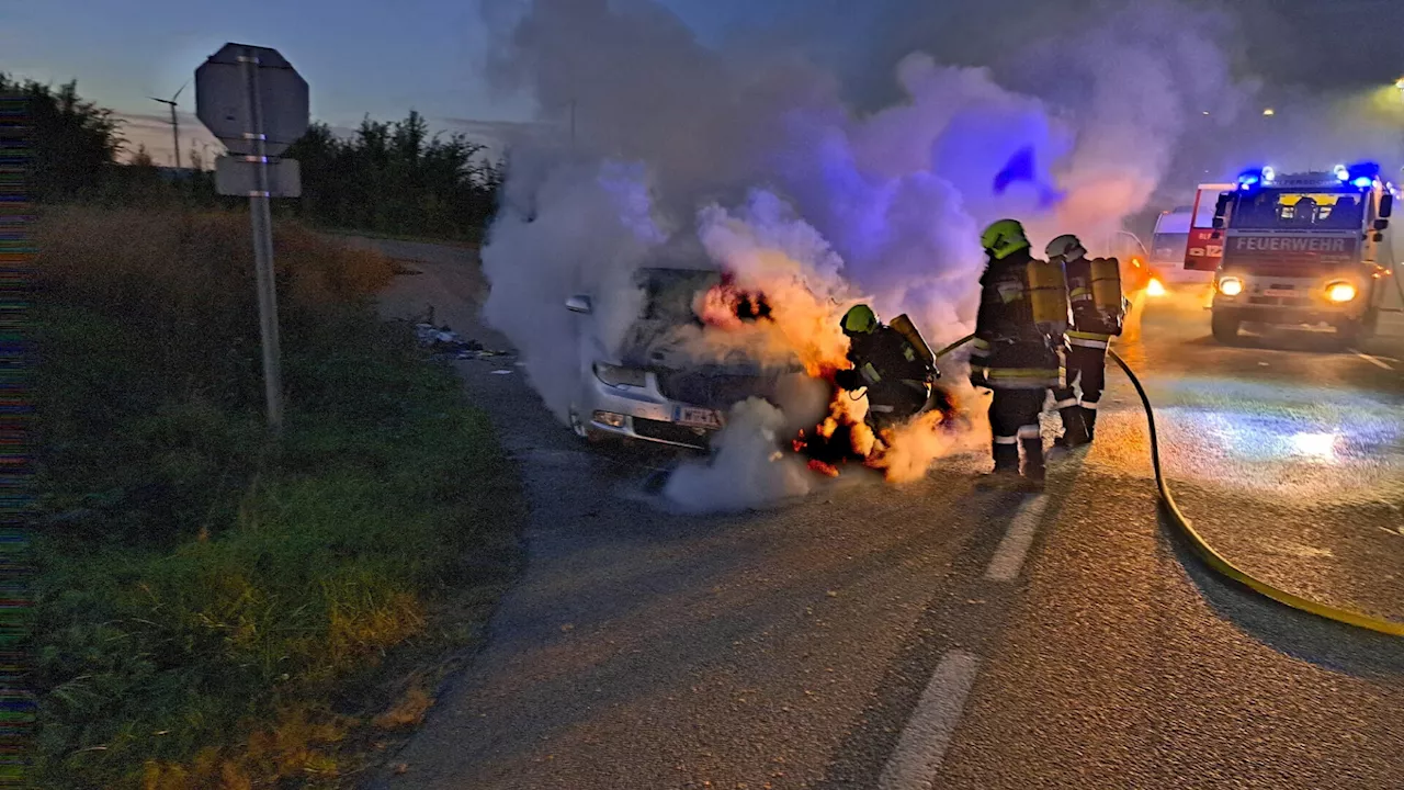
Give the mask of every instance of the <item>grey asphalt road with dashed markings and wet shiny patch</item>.
M 434 304 L 503 343 L 465 253 L 380 245 L 431 259 L 388 313 Z M 1125 346 L 1196 526 L 1404 614 L 1404 354 L 1206 335 L 1153 311 Z M 953 458 L 678 516 L 643 493 L 656 457 L 578 446 L 511 361 L 459 365 L 526 479 L 529 565 L 376 787 L 1404 787 L 1404 645 L 1200 571 L 1158 523 L 1119 374 L 1098 446 L 1043 496 L 976 491 L 984 461 Z

